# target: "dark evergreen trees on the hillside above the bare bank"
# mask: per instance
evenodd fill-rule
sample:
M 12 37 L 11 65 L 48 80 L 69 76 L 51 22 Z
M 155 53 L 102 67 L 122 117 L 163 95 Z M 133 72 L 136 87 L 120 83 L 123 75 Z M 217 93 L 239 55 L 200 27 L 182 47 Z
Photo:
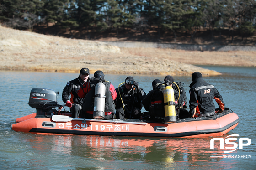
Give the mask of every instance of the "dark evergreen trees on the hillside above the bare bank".
M 256 45 L 255 0 L 0 0 L 0 23 L 87 40 Z

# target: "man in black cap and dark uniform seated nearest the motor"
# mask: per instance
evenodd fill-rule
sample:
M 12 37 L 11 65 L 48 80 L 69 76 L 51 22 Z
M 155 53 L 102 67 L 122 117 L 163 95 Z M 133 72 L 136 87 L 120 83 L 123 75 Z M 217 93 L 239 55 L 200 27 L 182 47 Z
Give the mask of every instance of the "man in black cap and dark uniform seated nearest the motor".
M 80 98 L 77 95 L 77 92 L 80 87 L 90 79 L 89 75 L 90 70 L 88 68 L 82 68 L 80 70 L 79 76 L 76 79 L 69 81 L 63 89 L 62 100 L 64 103 L 66 103 L 66 106 L 70 108 L 70 112 L 73 118 L 78 118 L 81 112 L 84 99 Z M 69 95 L 71 95 L 70 99 Z

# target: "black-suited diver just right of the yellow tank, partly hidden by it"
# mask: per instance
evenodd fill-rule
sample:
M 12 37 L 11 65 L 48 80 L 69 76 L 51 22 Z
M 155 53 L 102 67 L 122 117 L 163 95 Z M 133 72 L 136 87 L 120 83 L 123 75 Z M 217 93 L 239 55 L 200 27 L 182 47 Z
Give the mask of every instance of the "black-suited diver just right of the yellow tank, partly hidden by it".
M 187 111 L 187 96 L 185 89 L 183 88 L 184 83 L 182 82 L 174 82 L 174 78 L 170 75 L 165 76 L 165 82 L 169 82 L 170 86 L 174 89 L 174 97 L 177 102 L 176 105 L 176 114 L 177 116 L 182 118 L 189 118 L 189 112 Z

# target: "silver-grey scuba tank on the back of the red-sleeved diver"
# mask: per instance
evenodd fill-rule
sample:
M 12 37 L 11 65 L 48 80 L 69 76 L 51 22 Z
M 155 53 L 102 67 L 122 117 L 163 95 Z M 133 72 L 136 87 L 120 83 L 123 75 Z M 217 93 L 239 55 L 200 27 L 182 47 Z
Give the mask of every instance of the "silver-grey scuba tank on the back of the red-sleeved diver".
M 105 92 L 106 86 L 102 82 L 98 82 L 95 86 L 94 95 L 94 107 L 93 107 L 93 118 L 104 119 L 105 118 Z

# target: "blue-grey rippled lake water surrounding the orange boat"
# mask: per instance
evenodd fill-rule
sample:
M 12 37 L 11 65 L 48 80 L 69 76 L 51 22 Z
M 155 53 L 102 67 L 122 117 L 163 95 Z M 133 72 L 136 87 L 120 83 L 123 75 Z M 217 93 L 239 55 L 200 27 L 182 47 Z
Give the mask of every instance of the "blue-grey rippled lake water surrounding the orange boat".
M 118 136 L 38 135 L 11 130 L 15 119 L 34 113 L 27 103 L 32 88 L 59 91 L 78 77 L 72 73 L 0 71 L 0 169 L 2 170 L 188 170 L 255 169 L 256 165 L 256 68 L 201 66 L 223 73 L 203 77 L 224 98 L 227 108 L 240 122 L 224 137 L 239 134 L 251 145 L 224 154 L 210 149 L 209 138 L 146 138 Z M 93 75 L 93 73 L 91 73 Z M 115 88 L 128 75 L 106 75 Z M 154 79 L 165 76 L 133 76 L 146 93 Z M 184 82 L 189 102 L 191 77 L 174 77 Z M 216 105 L 217 106 L 217 105 Z M 237 141 L 239 144 L 239 142 Z M 246 142 L 245 142 L 246 143 Z M 227 146 L 227 145 L 224 145 Z M 233 145 L 229 145 L 233 146 Z M 227 158 L 215 157 L 227 155 Z M 241 156 L 242 155 L 242 156 Z M 250 155 L 250 158 L 249 158 Z M 228 158 L 229 156 L 229 158 Z M 232 158 L 233 156 L 233 158 Z M 245 157 L 244 157 L 245 156 Z M 242 157 L 242 158 L 241 158 Z M 247 157 L 247 158 L 246 158 Z

